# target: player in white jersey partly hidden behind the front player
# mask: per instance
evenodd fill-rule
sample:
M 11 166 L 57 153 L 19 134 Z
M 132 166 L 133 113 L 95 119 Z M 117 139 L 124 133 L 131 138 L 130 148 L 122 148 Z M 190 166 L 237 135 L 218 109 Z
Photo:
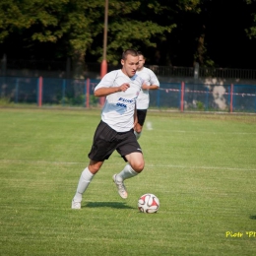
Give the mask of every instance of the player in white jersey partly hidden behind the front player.
M 139 140 L 142 134 L 143 125 L 146 119 L 147 110 L 150 104 L 150 90 L 158 90 L 160 88 L 160 82 L 156 74 L 149 68 L 144 67 L 145 57 L 142 52 L 139 53 L 139 67 L 137 70 L 137 75 L 139 75 L 146 83 L 142 87 L 142 91 L 137 98 L 137 117 L 138 122 L 134 127 L 134 134 Z

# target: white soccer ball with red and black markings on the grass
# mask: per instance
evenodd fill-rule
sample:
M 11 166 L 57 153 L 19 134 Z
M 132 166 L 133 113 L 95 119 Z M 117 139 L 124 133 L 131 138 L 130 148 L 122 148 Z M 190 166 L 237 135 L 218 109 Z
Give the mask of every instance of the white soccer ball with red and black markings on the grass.
M 160 200 L 154 194 L 144 194 L 139 198 L 138 208 L 140 212 L 146 214 L 157 213 L 160 209 Z

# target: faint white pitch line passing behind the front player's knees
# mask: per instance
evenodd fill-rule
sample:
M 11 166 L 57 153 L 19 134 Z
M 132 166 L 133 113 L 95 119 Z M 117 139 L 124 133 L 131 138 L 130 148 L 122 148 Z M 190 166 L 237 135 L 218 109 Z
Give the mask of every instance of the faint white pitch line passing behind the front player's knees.
M 32 164 L 83 164 L 87 165 L 87 162 L 83 161 L 50 161 L 50 160 L 0 160 L 0 162 L 5 163 L 32 163 Z M 120 163 L 108 163 L 107 161 L 104 162 L 104 165 L 124 165 L 124 162 L 120 161 Z M 146 167 L 163 167 L 163 168 L 179 168 L 179 169 L 225 169 L 225 170 L 252 170 L 256 171 L 256 168 L 235 168 L 235 167 L 225 167 L 225 166 L 186 166 L 186 165 L 173 165 L 173 164 L 147 164 Z

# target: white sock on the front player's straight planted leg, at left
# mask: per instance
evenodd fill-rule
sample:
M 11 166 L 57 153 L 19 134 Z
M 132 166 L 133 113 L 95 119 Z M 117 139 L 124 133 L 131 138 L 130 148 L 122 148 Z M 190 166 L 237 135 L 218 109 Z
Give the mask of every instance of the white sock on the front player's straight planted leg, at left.
M 88 167 L 86 167 L 80 176 L 79 182 L 78 182 L 78 187 L 77 187 L 77 192 L 73 198 L 75 202 L 81 202 L 82 201 L 82 196 L 84 192 L 87 190 L 90 182 L 94 178 L 95 174 L 93 174 Z

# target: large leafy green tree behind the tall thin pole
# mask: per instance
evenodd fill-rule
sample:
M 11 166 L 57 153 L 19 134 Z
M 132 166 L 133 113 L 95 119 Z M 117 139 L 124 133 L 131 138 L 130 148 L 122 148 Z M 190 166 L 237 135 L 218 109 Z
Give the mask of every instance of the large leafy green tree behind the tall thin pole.
M 125 48 L 157 47 L 176 27 L 172 15 L 197 10 L 199 2 L 109 1 L 107 61 L 116 64 L 120 58 L 116 52 Z M 79 77 L 88 52 L 101 60 L 103 16 L 103 0 L 2 0 L 0 43 L 13 36 L 27 47 L 55 44 L 56 56 L 70 56 Z

